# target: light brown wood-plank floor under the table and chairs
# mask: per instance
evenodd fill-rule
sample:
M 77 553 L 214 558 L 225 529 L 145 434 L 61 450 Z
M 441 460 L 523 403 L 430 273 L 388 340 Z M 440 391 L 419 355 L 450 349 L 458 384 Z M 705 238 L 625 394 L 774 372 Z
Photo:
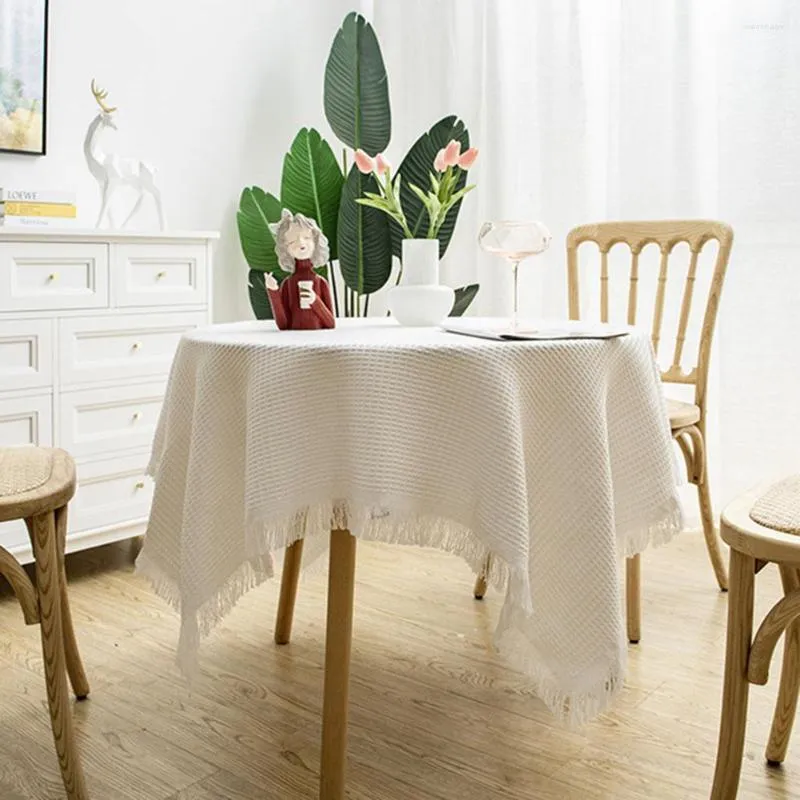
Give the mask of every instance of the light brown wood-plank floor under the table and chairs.
M 301 584 L 287 647 L 272 643 L 276 583 L 248 594 L 205 642 L 190 693 L 173 666 L 176 617 L 132 574 L 133 553 L 124 543 L 68 560 L 93 689 L 75 707 L 92 797 L 316 797 L 325 575 Z M 358 558 L 349 797 L 708 797 L 726 598 L 702 537 L 647 554 L 644 639 L 630 649 L 627 687 L 579 731 L 554 724 L 487 652 L 499 597 L 474 601 L 463 563 L 378 545 Z M 760 577 L 763 611 L 778 581 L 774 568 Z M 62 798 L 38 629 L 22 624 L 7 587 L 0 676 L 0 798 Z M 800 745 L 781 770 L 763 761 L 775 683 L 751 692 L 741 798 L 800 798 Z

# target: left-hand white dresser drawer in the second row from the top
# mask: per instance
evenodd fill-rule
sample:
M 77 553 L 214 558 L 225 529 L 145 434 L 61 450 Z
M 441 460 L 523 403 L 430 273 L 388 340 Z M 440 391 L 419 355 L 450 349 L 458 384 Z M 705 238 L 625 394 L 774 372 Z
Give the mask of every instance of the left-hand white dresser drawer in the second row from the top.
M 51 332 L 50 320 L 0 321 L 0 389 L 34 389 L 52 384 Z

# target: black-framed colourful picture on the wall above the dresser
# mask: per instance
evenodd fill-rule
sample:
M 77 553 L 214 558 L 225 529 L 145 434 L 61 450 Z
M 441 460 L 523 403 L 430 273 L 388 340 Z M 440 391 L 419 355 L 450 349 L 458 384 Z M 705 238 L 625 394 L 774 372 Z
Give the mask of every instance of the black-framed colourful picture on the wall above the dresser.
M 0 151 L 44 155 L 48 0 L 0 0 Z

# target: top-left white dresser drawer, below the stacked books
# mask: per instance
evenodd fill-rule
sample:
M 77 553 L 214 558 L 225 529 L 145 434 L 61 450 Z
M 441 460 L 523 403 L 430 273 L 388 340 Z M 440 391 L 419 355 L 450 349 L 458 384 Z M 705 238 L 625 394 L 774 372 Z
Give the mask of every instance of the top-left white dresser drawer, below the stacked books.
M 108 247 L 59 242 L 0 243 L 0 310 L 104 308 Z

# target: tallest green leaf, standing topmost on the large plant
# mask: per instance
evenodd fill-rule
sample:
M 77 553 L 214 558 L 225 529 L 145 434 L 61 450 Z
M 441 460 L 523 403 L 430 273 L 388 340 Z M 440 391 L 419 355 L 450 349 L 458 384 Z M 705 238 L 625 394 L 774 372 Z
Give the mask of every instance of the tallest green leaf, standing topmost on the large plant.
M 386 149 L 392 133 L 389 83 L 375 31 L 360 14 L 348 14 L 325 65 L 325 116 L 349 147 L 370 155 Z

